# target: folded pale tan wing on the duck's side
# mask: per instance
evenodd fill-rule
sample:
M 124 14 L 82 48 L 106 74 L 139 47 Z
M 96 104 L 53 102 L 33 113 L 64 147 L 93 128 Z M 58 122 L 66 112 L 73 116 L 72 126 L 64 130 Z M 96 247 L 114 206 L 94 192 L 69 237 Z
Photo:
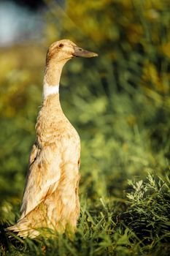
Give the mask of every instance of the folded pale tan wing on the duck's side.
M 20 208 L 20 219 L 25 217 L 58 187 L 61 177 L 61 148 L 60 141 L 43 148 L 39 148 L 36 143 L 34 144 Z

